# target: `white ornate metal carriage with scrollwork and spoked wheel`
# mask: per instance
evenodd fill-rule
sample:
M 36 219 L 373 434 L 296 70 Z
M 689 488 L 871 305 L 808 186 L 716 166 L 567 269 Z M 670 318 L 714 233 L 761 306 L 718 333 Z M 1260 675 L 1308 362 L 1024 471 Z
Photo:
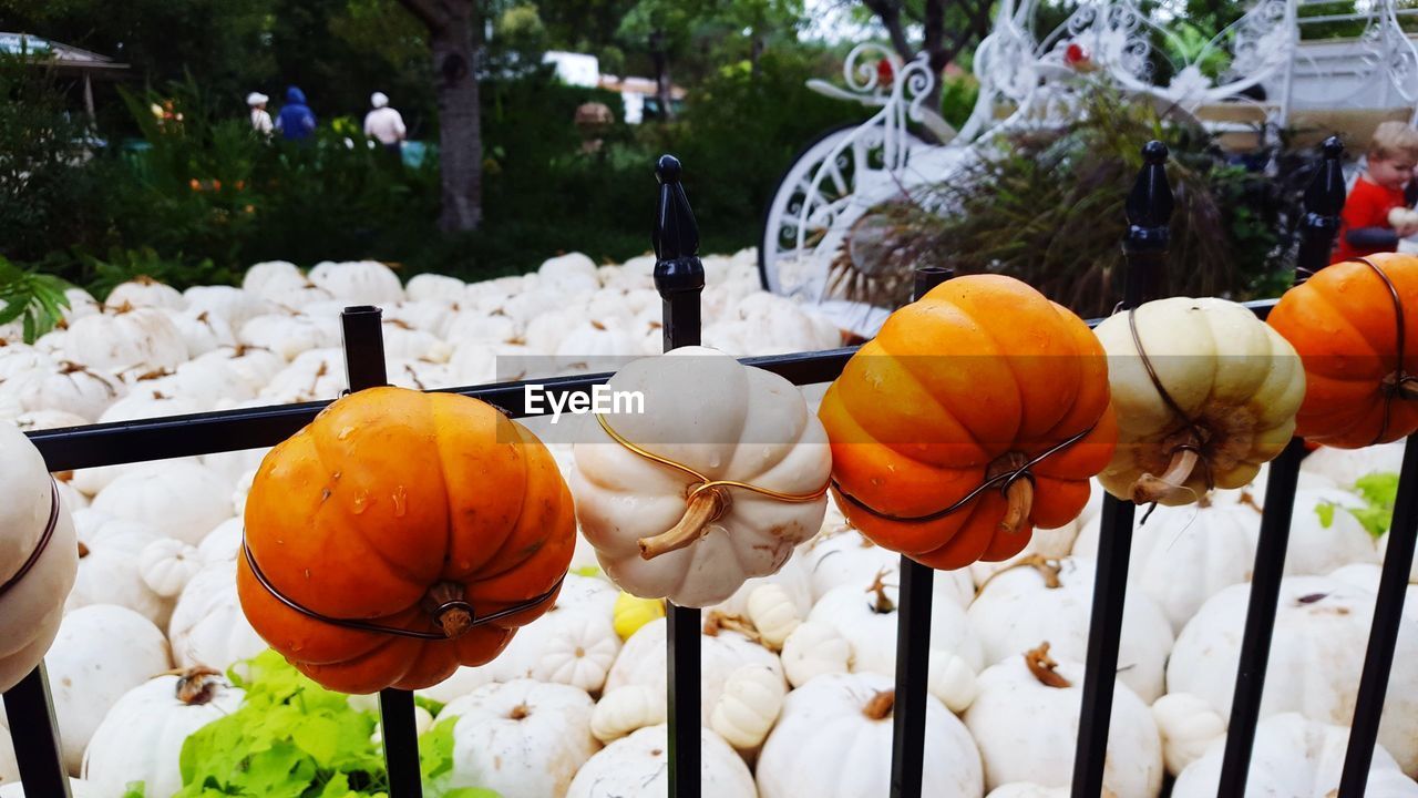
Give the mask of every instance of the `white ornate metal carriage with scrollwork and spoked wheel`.
M 923 105 L 934 81 L 925 55 L 902 62 L 888 47 L 858 45 L 842 70 L 845 89 L 825 81 L 808 87 L 878 111 L 861 125 L 825 133 L 788 168 L 764 220 L 764 285 L 815 305 L 842 329 L 873 335 L 889 308 L 849 301 L 831 280 L 834 260 L 849 254 L 854 226 L 882 203 L 919 199 L 913 192 L 959 172 L 1001 133 L 1079 114 L 1078 89 L 1092 80 L 1212 131 L 1252 136 L 1283 126 L 1296 106 L 1343 105 L 1361 85 L 1381 84 L 1404 105 L 1418 104 L 1418 47 L 1401 26 L 1402 16 L 1418 10 L 1401 7 L 1405 0 L 1361 0 L 1364 10 L 1354 14 L 1302 16 L 1314 1 L 1259 0 L 1200 41 L 1184 35 L 1178 20 L 1149 14 L 1134 0 L 1082 0 L 1039 35 L 1044 0 L 1003 0 L 974 53 L 980 94 L 959 131 Z M 1347 60 L 1327 78 L 1333 88 L 1316 97 L 1314 81 L 1296 75 L 1324 75 L 1326 68 L 1302 51 L 1300 31 L 1332 20 L 1360 23 L 1363 34 L 1343 45 Z M 913 125 L 937 143 L 923 141 Z

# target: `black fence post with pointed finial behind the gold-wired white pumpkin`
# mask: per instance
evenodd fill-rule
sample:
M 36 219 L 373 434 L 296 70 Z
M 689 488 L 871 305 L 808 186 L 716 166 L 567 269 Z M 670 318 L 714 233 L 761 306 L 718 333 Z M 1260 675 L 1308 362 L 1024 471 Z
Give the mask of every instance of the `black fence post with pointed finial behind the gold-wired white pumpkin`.
M 679 183 L 681 172 L 679 160 L 671 155 L 659 156 L 655 163 L 659 200 L 651 240 L 655 244 L 655 288 L 664 301 L 666 352 L 699 345 L 699 294 L 705 290 L 705 266 L 698 256 L 699 227 Z M 665 623 L 669 795 L 699 798 L 699 611 L 669 603 Z

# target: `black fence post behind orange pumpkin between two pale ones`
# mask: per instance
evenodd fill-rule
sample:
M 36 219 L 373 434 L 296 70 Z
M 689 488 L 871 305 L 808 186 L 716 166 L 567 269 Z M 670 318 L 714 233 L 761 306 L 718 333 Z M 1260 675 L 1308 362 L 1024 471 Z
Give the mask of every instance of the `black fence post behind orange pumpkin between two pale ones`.
M 910 300 L 954 277 L 954 270 L 916 270 Z M 900 557 L 896 609 L 896 704 L 892 707 L 891 797 L 919 798 L 926 764 L 926 686 L 930 680 L 930 609 L 936 569 Z

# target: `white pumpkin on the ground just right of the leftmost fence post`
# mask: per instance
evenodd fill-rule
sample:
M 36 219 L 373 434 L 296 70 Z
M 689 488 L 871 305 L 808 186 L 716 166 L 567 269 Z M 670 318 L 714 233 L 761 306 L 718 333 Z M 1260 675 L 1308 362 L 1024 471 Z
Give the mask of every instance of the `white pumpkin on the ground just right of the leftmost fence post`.
M 163 633 L 132 609 L 111 603 L 65 615 L 44 663 L 69 775 L 79 772 L 94 730 L 123 693 L 172 667 Z

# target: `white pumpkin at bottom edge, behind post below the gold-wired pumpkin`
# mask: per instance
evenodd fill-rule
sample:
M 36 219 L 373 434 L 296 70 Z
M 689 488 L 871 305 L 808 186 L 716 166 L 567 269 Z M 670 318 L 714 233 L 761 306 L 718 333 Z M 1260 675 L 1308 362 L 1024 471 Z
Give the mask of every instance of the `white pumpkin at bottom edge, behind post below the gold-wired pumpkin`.
M 709 728 L 699 730 L 699 795 L 757 798 L 749 765 Z M 651 726 L 601 748 L 577 771 L 566 798 L 664 798 L 669 794 L 665 726 Z

